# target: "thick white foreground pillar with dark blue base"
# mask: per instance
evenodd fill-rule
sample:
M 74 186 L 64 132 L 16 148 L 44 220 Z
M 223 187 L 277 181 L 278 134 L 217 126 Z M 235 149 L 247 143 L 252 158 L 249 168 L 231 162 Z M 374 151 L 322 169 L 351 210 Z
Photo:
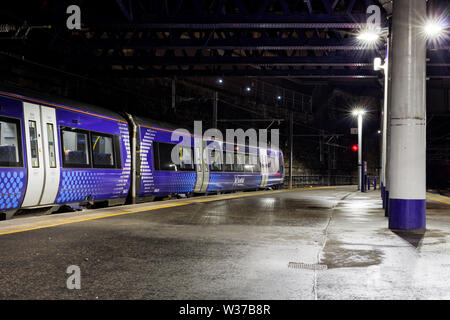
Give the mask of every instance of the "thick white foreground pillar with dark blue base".
M 389 228 L 425 228 L 426 0 L 395 0 L 392 17 L 392 106 Z

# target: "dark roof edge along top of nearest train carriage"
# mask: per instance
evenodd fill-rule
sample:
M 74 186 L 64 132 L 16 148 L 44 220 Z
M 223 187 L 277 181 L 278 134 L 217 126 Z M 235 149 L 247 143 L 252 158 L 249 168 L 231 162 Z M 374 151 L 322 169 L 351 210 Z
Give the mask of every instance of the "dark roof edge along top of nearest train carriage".
M 121 116 L 119 113 L 116 113 L 114 111 L 110 111 L 106 108 L 102 108 L 96 105 L 92 105 L 89 103 L 83 103 L 79 101 L 75 101 L 72 99 L 64 98 L 57 95 L 50 95 L 45 93 L 40 93 L 31 89 L 26 89 L 22 87 L 18 87 L 11 84 L 4 84 L 0 83 L 0 94 L 6 93 L 9 97 L 15 98 L 15 99 L 30 99 L 35 100 L 35 102 L 42 103 L 43 105 L 50 105 L 50 106 L 63 106 L 63 107 L 70 107 L 75 109 L 74 111 L 84 111 L 89 112 L 93 114 L 98 114 L 101 116 L 106 116 L 110 118 L 114 118 L 120 121 L 126 121 L 126 119 Z

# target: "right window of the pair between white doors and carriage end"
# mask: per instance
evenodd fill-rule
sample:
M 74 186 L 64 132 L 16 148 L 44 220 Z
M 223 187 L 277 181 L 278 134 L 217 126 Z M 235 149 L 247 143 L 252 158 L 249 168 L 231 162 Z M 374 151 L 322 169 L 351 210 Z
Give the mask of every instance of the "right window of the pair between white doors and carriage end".
M 113 137 L 92 132 L 91 145 L 94 168 L 114 168 Z

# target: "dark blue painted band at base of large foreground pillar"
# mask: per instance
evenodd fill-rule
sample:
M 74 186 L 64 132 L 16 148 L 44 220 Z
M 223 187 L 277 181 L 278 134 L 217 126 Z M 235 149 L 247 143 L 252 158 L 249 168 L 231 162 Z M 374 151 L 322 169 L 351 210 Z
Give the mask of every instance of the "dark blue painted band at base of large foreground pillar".
M 426 200 L 389 199 L 389 229 L 424 229 Z

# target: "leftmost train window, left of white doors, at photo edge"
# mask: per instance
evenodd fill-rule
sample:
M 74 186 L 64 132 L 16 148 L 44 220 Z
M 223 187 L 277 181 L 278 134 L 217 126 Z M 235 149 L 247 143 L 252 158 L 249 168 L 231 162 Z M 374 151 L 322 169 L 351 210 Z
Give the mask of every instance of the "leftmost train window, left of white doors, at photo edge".
M 22 167 L 20 122 L 0 117 L 0 167 Z

